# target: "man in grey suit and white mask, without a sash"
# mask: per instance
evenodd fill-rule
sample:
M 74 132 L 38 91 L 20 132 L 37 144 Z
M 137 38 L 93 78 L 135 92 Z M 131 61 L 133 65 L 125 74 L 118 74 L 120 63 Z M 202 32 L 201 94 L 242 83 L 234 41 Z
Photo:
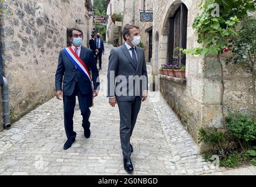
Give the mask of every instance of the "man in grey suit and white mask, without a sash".
M 147 99 L 148 78 L 144 50 L 137 47 L 140 43 L 139 27 L 124 26 L 123 38 L 124 45 L 110 52 L 107 96 L 112 107 L 116 103 L 119 106 L 124 169 L 130 173 L 133 172 L 130 138 L 142 101 Z

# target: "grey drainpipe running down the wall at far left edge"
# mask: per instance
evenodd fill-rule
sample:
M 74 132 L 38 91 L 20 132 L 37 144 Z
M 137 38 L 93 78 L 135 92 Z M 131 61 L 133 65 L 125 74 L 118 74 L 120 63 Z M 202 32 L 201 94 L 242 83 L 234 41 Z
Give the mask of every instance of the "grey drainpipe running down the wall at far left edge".
M 2 60 L 2 45 L 0 47 L 0 84 L 2 85 L 2 94 L 4 102 L 4 126 L 6 129 L 11 128 L 10 110 L 9 110 L 9 86 L 7 79 L 2 74 L 3 60 Z

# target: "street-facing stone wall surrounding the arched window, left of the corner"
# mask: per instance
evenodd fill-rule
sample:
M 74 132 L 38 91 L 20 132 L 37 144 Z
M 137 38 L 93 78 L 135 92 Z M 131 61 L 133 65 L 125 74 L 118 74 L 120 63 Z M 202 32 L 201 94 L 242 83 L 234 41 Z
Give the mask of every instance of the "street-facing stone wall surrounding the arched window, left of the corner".
M 181 3 L 188 8 L 187 46 L 188 48 L 197 46 L 197 36 L 193 32 L 192 23 L 197 15 L 195 10 L 198 9 L 200 1 L 154 1 L 153 60 L 151 63 L 155 74 L 159 74 L 161 64 L 167 63 L 169 17 L 174 15 Z M 203 58 L 187 56 L 186 81 L 165 76 L 160 78 L 160 91 L 194 140 L 197 139 L 197 131 L 202 125 L 203 64 Z

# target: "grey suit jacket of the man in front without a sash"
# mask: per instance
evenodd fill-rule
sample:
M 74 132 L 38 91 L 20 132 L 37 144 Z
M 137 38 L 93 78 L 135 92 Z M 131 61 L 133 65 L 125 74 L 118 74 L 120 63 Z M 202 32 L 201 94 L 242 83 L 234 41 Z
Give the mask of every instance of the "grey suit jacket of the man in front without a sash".
M 107 96 L 116 96 L 117 101 L 133 101 L 136 96 L 142 98 L 143 91 L 148 90 L 147 66 L 144 50 L 136 47 L 137 67 L 125 45 L 112 49 L 107 71 Z M 134 78 L 134 80 L 133 80 Z M 137 84 L 134 84 L 134 81 Z M 124 95 L 119 95 L 122 89 Z M 130 94 L 130 91 L 136 93 Z M 119 93 L 117 93 L 119 92 Z

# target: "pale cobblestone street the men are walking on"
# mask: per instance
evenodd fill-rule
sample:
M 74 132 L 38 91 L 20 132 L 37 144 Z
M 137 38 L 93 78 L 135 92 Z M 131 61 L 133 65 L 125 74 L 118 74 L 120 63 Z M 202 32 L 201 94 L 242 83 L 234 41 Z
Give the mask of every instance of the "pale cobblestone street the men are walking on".
M 91 108 L 92 136 L 83 136 L 82 116 L 76 105 L 74 128 L 78 136 L 69 150 L 63 150 L 63 103 L 53 98 L 22 117 L 12 129 L 0 132 L 0 175 L 127 174 L 123 169 L 118 108 L 110 107 L 106 98 L 111 47 L 106 45 L 100 71 L 102 91 Z M 203 160 L 197 144 L 160 93 L 149 95 L 132 137 L 134 175 L 228 174 Z M 245 169 L 247 174 L 256 174 L 255 167 Z

